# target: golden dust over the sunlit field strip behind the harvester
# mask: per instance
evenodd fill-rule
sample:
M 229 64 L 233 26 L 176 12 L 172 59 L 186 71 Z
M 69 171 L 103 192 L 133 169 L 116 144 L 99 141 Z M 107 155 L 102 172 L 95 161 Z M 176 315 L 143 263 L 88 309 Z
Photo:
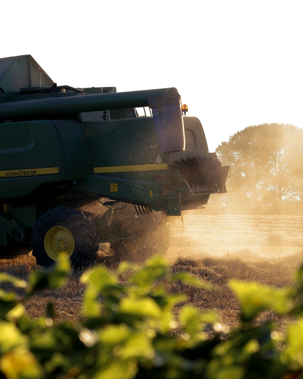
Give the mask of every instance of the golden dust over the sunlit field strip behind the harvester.
M 167 251 L 176 258 L 239 257 L 279 259 L 303 249 L 303 216 L 211 215 L 187 211 L 172 227 Z

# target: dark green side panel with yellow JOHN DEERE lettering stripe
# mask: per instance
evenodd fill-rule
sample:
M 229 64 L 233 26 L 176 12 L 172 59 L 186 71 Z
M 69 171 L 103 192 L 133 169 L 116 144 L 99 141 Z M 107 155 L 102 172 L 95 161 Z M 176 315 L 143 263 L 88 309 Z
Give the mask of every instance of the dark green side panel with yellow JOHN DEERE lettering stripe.
M 6 123 L 0 129 L 1 199 L 27 196 L 41 185 L 66 180 L 61 142 L 51 121 Z M 35 174 L 58 168 L 56 174 Z

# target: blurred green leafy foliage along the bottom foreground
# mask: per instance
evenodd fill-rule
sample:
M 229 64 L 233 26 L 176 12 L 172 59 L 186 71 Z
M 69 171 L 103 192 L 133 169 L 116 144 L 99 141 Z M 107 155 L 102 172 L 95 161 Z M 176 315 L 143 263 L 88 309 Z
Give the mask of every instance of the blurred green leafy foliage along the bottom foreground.
M 0 292 L 0 377 L 17 378 L 301 378 L 303 367 L 303 266 L 294 288 L 273 288 L 231 280 L 241 304 L 241 324 L 233 330 L 213 312 L 201 313 L 184 296 L 166 291 L 168 283 L 210 288 L 186 273 L 171 273 L 161 257 L 142 268 L 122 262 L 117 273 L 104 266 L 86 271 L 83 321 L 54 322 L 52 304 L 40 319 L 28 318 L 27 299 L 62 286 L 69 262 L 35 271 L 28 282 L 0 273 L 2 282 L 24 288 Z M 129 274 L 121 285 L 118 276 Z M 212 288 L 216 290 L 216 288 Z M 176 305 L 178 316 L 175 317 Z M 287 316 L 285 335 L 275 324 L 256 326 L 256 315 L 270 309 Z M 214 333 L 206 336 L 205 328 Z

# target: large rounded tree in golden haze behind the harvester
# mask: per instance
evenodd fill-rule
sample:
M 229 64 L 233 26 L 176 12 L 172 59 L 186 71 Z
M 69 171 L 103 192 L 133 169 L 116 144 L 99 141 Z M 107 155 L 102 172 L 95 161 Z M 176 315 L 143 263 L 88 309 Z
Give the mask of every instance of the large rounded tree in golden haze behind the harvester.
M 249 126 L 223 142 L 216 153 L 231 166 L 231 204 L 268 204 L 303 198 L 303 130 L 289 124 Z

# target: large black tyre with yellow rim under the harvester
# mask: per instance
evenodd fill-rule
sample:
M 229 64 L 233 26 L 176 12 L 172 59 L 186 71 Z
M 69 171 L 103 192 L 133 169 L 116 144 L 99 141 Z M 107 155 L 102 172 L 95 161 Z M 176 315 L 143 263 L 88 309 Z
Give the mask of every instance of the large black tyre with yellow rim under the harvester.
M 54 208 L 44 213 L 31 236 L 37 265 L 52 266 L 63 255 L 70 258 L 74 268 L 83 268 L 97 258 L 95 227 L 83 212 L 73 208 Z

